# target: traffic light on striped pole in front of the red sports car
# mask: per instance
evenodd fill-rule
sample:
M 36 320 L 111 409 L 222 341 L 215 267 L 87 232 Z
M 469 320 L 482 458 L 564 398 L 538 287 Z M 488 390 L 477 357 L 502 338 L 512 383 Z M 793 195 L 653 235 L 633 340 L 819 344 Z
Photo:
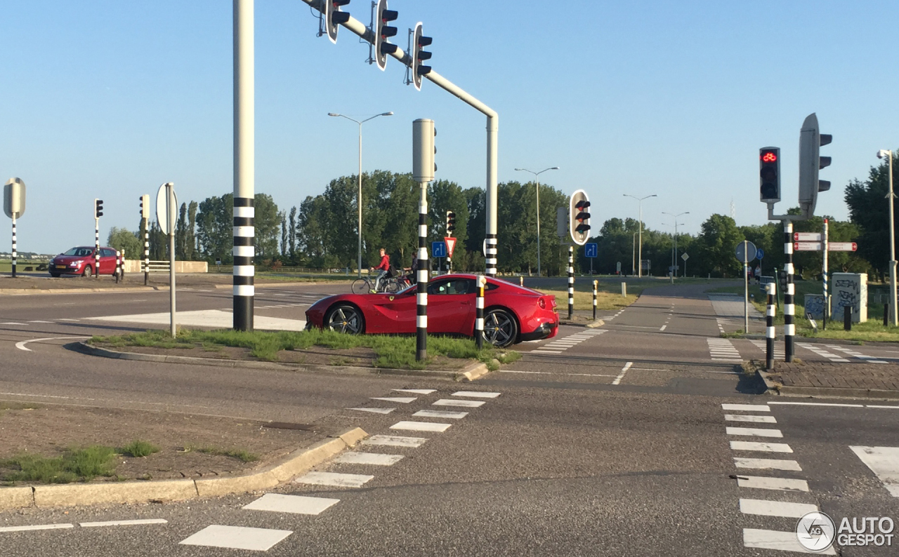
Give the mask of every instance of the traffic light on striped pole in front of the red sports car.
M 415 296 L 415 360 L 428 358 L 428 182 L 434 179 L 434 120 L 412 122 L 412 178 L 421 186 L 418 201 L 418 292 Z

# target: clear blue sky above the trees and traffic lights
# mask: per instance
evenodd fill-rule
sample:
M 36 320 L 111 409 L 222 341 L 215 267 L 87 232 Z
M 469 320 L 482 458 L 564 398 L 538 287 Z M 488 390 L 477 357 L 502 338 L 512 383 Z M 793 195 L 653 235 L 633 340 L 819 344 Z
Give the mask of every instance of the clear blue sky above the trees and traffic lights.
M 485 186 L 485 117 L 404 68 L 363 63 L 342 30 L 316 38 L 298 0 L 256 0 L 256 191 L 280 208 L 356 172 L 356 125 L 343 112 L 396 116 L 364 128 L 363 168 L 411 171 L 412 120 L 436 121 L 438 172 Z M 818 213 L 844 218 L 842 191 L 899 146 L 899 4 L 892 2 L 537 2 L 392 0 L 399 40 L 424 22 L 432 66 L 500 114 L 499 179 L 543 178 L 593 199 L 595 226 L 636 217 L 697 232 L 711 213 L 764 222 L 758 149 L 780 146 L 796 199 L 799 128 L 817 112 L 833 135 Z M 566 8 L 565 11 L 556 8 Z M 368 0 L 350 13 L 369 21 Z M 179 199 L 233 190 L 232 13 L 227 0 L 0 4 L 0 175 L 28 185 L 23 251 L 93 243 L 135 229 L 138 196 L 174 181 Z M 795 205 L 795 202 L 792 203 Z M 781 203 L 779 210 L 785 210 Z M 553 217 L 548 217 L 553 220 Z M 8 251 L 9 221 L 0 232 Z M 502 225 L 502 223 L 500 224 Z

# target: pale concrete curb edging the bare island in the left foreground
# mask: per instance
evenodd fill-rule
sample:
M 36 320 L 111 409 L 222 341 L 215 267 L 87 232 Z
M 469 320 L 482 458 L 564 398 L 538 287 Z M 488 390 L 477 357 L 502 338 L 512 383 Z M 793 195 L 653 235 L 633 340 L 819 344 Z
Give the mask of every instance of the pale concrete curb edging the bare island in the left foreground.
M 0 510 L 24 507 L 72 507 L 98 503 L 138 503 L 150 500 L 189 500 L 263 490 L 287 482 L 298 473 L 358 443 L 369 434 L 360 428 L 301 448 L 262 470 L 230 478 L 35 485 L 0 488 Z

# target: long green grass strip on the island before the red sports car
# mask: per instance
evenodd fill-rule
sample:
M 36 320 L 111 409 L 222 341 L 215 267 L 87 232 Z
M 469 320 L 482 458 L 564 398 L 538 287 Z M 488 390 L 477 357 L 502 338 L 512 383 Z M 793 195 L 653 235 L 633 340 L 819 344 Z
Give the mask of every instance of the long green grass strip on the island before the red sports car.
M 426 361 L 415 361 L 415 339 L 412 336 L 349 335 L 334 331 L 312 329 L 303 332 L 245 332 L 234 330 L 196 331 L 182 329 L 176 338 L 167 331 L 134 332 L 120 336 L 93 337 L 91 344 L 113 347 L 147 346 L 156 348 L 194 348 L 209 350 L 214 346 L 249 349 L 250 355 L 267 361 L 277 361 L 281 350 L 303 350 L 314 346 L 328 349 L 367 348 L 375 353 L 375 367 L 423 369 Z M 446 336 L 428 337 L 429 357 L 478 359 L 489 362 L 493 358 L 513 358 L 511 350 L 485 348 L 478 350 L 475 340 Z M 512 360 L 514 361 L 514 360 Z

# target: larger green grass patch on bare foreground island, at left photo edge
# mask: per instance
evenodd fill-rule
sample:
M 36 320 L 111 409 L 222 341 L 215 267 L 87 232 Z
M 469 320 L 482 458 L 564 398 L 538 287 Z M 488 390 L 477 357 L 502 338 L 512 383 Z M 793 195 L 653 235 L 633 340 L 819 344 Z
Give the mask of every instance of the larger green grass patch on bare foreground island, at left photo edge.
M 111 476 L 115 471 L 116 451 L 111 446 L 93 445 L 70 448 L 62 456 L 46 457 L 20 453 L 4 461 L 0 468 L 5 482 L 70 483 Z

